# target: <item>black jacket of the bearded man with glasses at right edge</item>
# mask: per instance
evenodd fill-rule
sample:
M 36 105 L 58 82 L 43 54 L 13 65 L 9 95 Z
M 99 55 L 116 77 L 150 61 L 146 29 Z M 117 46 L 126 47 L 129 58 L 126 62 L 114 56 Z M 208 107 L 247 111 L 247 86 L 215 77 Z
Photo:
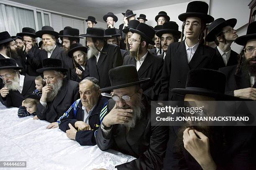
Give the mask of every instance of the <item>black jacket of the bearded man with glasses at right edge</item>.
M 219 69 L 226 76 L 225 94 L 234 95 L 234 90 L 251 87 L 249 73 L 242 70 L 236 75 L 237 65 L 222 67 Z

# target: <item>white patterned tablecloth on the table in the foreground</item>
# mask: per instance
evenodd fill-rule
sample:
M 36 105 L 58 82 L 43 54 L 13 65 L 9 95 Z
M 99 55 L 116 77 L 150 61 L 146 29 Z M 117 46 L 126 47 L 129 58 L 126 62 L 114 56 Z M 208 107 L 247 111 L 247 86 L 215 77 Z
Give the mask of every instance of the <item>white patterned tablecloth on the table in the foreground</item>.
M 0 161 L 26 161 L 27 168 L 18 170 L 113 169 L 135 159 L 114 150 L 103 152 L 97 145 L 81 146 L 59 128 L 46 129 L 49 122 L 18 117 L 18 108 L 1 109 Z

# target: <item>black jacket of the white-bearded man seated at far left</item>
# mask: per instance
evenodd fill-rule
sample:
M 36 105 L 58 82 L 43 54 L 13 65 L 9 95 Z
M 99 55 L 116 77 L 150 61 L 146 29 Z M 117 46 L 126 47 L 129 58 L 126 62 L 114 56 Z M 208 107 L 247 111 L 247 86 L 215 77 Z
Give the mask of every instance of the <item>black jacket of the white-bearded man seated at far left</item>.
M 36 89 L 35 84 L 35 77 L 30 75 L 25 75 L 23 89 L 20 94 L 19 91 L 12 91 L 9 90 L 9 94 L 6 97 L 2 97 L 0 95 L 0 101 L 5 106 L 13 106 L 13 107 L 20 107 L 22 101 L 26 99 L 29 95 L 33 93 Z

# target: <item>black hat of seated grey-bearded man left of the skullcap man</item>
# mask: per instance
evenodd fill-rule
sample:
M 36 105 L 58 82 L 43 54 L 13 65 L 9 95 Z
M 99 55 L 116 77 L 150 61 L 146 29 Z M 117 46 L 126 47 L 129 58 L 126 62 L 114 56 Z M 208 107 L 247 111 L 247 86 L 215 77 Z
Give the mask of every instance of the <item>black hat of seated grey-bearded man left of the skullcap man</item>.
M 43 60 L 43 68 L 37 69 L 36 72 L 43 73 L 48 70 L 56 70 L 67 72 L 67 68 L 63 67 L 62 61 L 56 58 L 46 58 Z

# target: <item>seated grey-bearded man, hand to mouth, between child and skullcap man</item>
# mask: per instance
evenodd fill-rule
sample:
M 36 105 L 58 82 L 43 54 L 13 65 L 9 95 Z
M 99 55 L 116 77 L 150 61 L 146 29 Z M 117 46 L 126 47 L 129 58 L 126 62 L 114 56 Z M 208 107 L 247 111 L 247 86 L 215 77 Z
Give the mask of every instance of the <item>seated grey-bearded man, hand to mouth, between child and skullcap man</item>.
M 78 82 L 67 80 L 67 68 L 62 67 L 59 59 L 44 59 L 43 68 L 36 71 L 44 74 L 43 80 L 46 82 L 40 103 L 36 107 L 37 117 L 40 120 L 54 122 L 47 128 L 56 128 L 59 117 L 79 98 Z

